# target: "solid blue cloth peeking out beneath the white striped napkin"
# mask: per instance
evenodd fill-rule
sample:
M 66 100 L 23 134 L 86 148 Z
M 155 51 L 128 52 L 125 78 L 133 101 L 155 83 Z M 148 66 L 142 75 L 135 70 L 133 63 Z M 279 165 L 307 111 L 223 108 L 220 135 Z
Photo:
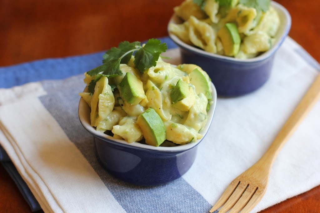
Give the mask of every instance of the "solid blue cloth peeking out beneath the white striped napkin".
M 159 38 L 161 42 L 167 43 L 168 49 L 176 48 L 177 46 L 169 37 Z M 145 43 L 144 41 L 143 43 Z M 29 82 L 36 82 L 41 80 L 55 80 L 65 79 L 73 75 L 82 74 L 94 67 L 101 65 L 102 55 L 105 51 L 73 56 L 66 58 L 49 58 L 43 60 L 36 60 L 18 65 L 0 67 L 0 88 L 10 88 L 13 86 L 23 85 Z M 77 65 L 81 69 L 70 69 L 70 66 Z M 68 72 L 66 72 L 68 71 Z M 31 210 L 38 211 L 41 209 L 36 198 L 31 193 L 27 184 L 21 178 L 19 172 L 16 170 L 14 164 L 10 161 L 9 156 L 4 148 L 0 146 L 0 162 L 4 169 L 9 173 L 14 180 L 21 194 L 29 204 Z

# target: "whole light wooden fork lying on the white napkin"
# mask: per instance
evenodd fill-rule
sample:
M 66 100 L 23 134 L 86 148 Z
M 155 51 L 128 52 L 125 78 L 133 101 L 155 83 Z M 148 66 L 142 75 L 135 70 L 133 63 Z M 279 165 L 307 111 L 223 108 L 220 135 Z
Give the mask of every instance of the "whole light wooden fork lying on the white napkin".
M 248 170 L 236 177 L 210 212 L 219 209 L 219 213 L 250 212 L 261 200 L 268 186 L 271 166 L 284 143 L 290 138 L 308 111 L 320 98 L 320 74 L 316 77 L 307 93 L 292 112 L 266 153 Z

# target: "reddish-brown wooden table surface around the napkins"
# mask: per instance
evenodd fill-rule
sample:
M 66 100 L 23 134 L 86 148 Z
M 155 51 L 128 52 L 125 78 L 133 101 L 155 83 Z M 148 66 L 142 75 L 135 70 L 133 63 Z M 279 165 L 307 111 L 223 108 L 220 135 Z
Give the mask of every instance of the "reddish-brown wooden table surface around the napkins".
M 182 0 L 1 0 L 0 66 L 48 57 L 93 53 L 117 46 L 124 40 L 143 41 L 167 36 L 166 27 L 172 8 L 181 2 Z M 289 36 L 320 62 L 320 1 L 276 2 L 286 7 L 292 16 Z M 319 199 L 320 186 L 317 186 L 261 212 L 320 212 Z M 31 212 L 2 166 L 0 212 Z

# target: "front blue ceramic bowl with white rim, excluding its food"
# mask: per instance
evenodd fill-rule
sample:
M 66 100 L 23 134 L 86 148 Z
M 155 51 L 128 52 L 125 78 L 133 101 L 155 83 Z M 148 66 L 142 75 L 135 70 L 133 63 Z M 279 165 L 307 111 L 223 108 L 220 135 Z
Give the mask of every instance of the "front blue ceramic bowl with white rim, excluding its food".
M 207 123 L 199 132 L 204 135 L 212 123 L 217 92 L 212 84 L 212 104 Z M 197 145 L 195 143 L 175 147 L 154 147 L 138 142 L 128 143 L 110 135 L 97 132 L 90 126 L 90 107 L 80 99 L 78 114 L 81 124 L 94 136 L 97 157 L 102 166 L 114 177 L 140 186 L 155 186 L 180 178 L 193 164 Z

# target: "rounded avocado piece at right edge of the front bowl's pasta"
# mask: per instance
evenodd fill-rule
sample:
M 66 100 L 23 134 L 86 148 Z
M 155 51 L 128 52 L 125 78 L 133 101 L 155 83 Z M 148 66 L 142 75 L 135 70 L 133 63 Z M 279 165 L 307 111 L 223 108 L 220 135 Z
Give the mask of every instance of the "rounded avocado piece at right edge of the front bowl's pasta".
M 190 84 L 195 86 L 196 94 L 203 93 L 207 99 L 211 100 L 211 81 L 208 81 L 204 72 L 194 69 L 189 74 Z

